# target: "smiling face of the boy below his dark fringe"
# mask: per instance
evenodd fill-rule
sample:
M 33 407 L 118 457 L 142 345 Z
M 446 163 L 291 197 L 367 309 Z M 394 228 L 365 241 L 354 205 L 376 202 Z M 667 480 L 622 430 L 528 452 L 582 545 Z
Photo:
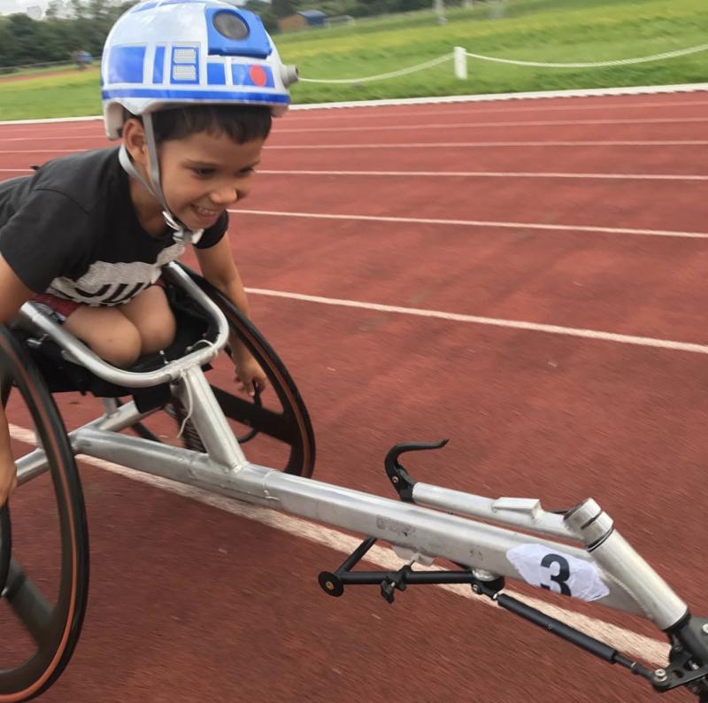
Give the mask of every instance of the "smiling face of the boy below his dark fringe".
M 134 127 L 136 132 L 142 132 L 139 122 Z M 128 151 L 136 165 L 150 174 L 147 146 L 131 143 L 131 136 L 139 136 L 132 132 L 125 133 Z M 253 139 L 240 144 L 226 134 L 211 132 L 197 132 L 161 143 L 160 185 L 173 215 L 190 229 L 206 229 L 216 224 L 224 210 L 248 196 L 264 143 L 264 139 Z M 148 194 L 144 191 L 136 193 L 135 184 L 132 185 L 135 208 L 143 226 L 162 220 L 162 207 L 155 198 L 145 197 Z

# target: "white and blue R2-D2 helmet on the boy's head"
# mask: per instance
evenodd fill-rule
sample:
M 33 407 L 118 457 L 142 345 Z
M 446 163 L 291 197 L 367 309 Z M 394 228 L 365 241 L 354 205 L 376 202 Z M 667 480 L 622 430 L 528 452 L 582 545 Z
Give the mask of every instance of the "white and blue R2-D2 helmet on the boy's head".
M 123 14 L 101 62 L 106 135 L 125 108 L 145 115 L 189 104 L 288 109 L 295 66 L 284 66 L 258 15 L 221 0 L 146 0 Z

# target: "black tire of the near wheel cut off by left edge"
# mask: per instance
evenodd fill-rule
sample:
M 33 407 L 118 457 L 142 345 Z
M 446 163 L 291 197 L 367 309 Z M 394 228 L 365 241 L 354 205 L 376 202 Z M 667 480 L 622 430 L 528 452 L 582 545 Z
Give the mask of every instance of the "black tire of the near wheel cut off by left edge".
M 36 651 L 13 668 L 4 668 L 3 661 L 0 661 L 0 703 L 35 698 L 57 681 L 79 640 L 89 591 L 86 512 L 64 422 L 29 354 L 12 332 L 0 326 L 0 399 L 3 406 L 17 395 L 17 401 L 21 400 L 32 418 L 35 434 L 49 460 L 50 481 L 47 483 L 50 491 L 53 489 L 53 496 L 48 499 L 56 504 L 60 532 L 57 542 L 61 554 L 58 557 L 56 602 L 50 603 L 25 573 L 15 559 L 16 552 L 13 552 L 0 605 L 9 606 L 29 633 L 28 641 L 34 642 Z M 22 491 L 23 487 L 19 486 L 10 503 L 20 502 Z M 12 514 L 14 533 L 22 523 L 18 521 L 17 511 L 13 510 Z M 50 542 L 48 536 L 36 537 L 40 549 L 42 544 Z M 13 549 L 14 544 L 13 540 Z

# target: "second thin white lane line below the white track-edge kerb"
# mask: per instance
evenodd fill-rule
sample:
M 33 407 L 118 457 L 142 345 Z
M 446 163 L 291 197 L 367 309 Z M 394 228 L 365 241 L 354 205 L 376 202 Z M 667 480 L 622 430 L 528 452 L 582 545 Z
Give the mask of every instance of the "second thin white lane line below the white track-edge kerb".
M 381 132 L 381 131 L 403 131 L 415 129 L 419 132 L 430 129 L 460 129 L 470 128 L 485 129 L 516 128 L 516 127 L 577 127 L 591 125 L 666 125 L 666 124 L 705 124 L 704 117 L 670 117 L 648 118 L 646 120 L 535 120 L 535 121 L 512 121 L 512 122 L 437 122 L 435 124 L 418 125 L 371 125 L 369 127 L 280 127 L 277 134 L 301 134 L 305 132 Z M 53 138 L 53 137 L 52 137 Z

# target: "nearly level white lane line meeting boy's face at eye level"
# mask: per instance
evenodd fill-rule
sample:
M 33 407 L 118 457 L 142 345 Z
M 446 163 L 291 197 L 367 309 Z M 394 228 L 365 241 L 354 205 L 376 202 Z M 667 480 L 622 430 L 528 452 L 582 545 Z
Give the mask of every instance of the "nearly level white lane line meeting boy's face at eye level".
M 434 176 L 458 178 L 580 178 L 617 181 L 708 181 L 698 174 L 554 174 L 533 171 L 314 171 L 258 169 L 269 175 L 341 175 L 341 176 Z

